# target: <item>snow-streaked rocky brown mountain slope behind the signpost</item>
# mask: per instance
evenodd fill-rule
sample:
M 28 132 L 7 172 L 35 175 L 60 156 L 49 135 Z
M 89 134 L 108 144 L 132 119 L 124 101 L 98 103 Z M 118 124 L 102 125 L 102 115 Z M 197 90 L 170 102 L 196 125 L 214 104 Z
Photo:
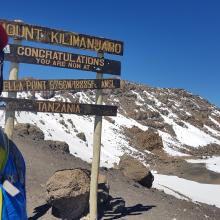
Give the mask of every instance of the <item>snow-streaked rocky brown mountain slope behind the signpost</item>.
M 182 156 L 194 155 L 201 147 L 218 151 L 220 109 L 207 100 L 182 89 L 159 89 L 124 81 L 121 89 L 103 92 L 105 104 L 118 106 L 117 117 L 104 117 L 103 166 L 112 166 L 124 152 L 144 156 L 147 150 L 158 148 L 170 155 Z M 95 102 L 95 93 L 90 90 L 49 95 L 50 100 Z M 40 93 L 34 96 L 43 99 Z M 33 94 L 20 93 L 18 97 L 33 98 Z M 37 125 L 46 139 L 67 141 L 72 154 L 91 161 L 94 117 L 27 112 L 18 112 L 16 117 L 18 123 Z M 154 133 L 158 133 L 161 140 L 151 145 L 153 139 L 157 139 Z

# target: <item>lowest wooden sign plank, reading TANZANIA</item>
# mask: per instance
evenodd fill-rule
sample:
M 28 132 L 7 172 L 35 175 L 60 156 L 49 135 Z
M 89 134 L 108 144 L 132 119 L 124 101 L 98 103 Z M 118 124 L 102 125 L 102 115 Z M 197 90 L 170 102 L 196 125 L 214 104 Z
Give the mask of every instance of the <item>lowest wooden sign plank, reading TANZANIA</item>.
M 6 111 L 53 112 L 78 115 L 116 116 L 117 106 L 71 102 L 36 101 L 0 97 L 0 106 Z

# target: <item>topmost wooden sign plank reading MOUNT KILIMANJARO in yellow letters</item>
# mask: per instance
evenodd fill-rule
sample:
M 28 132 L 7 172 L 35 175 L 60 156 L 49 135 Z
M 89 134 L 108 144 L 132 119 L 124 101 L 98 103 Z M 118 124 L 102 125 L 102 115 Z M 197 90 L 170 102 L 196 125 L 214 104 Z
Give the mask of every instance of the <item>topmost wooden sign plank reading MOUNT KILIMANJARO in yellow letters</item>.
M 20 37 L 28 41 L 123 55 L 123 42 L 121 41 L 2 19 L 0 19 L 0 23 L 10 37 Z

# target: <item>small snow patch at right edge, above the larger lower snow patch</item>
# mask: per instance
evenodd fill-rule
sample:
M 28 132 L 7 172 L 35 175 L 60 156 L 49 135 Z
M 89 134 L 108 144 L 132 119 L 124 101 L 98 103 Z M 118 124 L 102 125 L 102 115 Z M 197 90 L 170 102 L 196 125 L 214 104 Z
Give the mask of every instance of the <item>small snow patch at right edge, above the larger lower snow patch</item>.
M 186 160 L 189 163 L 204 163 L 206 168 L 212 170 L 216 173 L 220 173 L 220 157 L 210 157 L 207 159 L 198 159 L 198 160 Z

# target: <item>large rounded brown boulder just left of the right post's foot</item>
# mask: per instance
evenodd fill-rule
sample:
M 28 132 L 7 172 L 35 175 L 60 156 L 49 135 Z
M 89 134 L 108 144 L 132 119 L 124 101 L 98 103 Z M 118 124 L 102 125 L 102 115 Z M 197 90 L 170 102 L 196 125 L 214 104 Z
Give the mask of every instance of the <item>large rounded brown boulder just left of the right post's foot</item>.
M 83 169 L 57 171 L 46 184 L 47 202 L 62 219 L 79 219 L 88 209 L 89 186 L 90 176 Z

